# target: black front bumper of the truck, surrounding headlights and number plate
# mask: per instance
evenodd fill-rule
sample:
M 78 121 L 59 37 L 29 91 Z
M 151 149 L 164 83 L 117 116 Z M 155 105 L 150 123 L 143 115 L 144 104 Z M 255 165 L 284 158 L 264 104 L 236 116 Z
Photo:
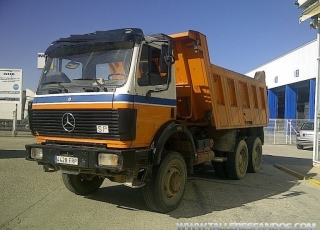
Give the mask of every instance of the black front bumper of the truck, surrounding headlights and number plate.
M 36 161 L 42 165 L 50 165 L 55 168 L 75 168 L 75 169 L 107 169 L 113 171 L 123 171 L 133 169 L 137 164 L 148 165 L 151 156 L 149 149 L 124 149 L 114 150 L 102 147 L 88 146 L 71 146 L 58 144 L 30 144 L 26 145 L 26 159 Z M 34 159 L 31 157 L 31 149 L 42 149 L 42 159 Z M 99 166 L 99 154 L 116 154 L 118 156 L 118 165 L 116 166 Z M 57 163 L 57 156 L 73 157 L 78 159 L 77 165 Z

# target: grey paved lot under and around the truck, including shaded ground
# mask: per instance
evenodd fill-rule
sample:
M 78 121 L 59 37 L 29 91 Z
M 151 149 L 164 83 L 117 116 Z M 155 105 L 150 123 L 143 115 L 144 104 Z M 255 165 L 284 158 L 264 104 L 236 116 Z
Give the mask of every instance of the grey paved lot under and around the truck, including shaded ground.
M 208 164 L 189 177 L 180 207 L 159 214 L 148 210 L 141 189 L 108 180 L 91 196 L 74 195 L 60 172 L 43 172 L 24 159 L 24 145 L 33 142 L 0 137 L 0 229 L 177 229 L 180 222 L 320 226 L 320 188 L 273 166 L 300 162 L 301 173 L 318 176 L 309 150 L 265 145 L 262 170 L 241 181 L 219 179 Z

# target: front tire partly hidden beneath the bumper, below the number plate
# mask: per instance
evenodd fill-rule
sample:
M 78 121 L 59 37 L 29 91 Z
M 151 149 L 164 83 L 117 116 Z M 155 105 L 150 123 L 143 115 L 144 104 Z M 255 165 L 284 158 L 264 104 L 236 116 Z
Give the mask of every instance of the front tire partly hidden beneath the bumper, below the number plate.
M 73 175 L 62 173 L 62 180 L 69 191 L 83 196 L 97 191 L 104 178 L 89 174 Z

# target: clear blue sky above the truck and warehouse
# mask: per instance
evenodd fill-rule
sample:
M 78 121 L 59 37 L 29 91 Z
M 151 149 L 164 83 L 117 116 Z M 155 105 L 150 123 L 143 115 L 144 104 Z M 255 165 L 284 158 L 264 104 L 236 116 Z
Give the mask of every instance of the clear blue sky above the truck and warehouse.
M 0 0 L 0 68 L 22 69 L 35 90 L 37 54 L 70 34 L 125 27 L 145 34 L 197 30 L 211 62 L 246 73 L 316 39 L 295 0 Z

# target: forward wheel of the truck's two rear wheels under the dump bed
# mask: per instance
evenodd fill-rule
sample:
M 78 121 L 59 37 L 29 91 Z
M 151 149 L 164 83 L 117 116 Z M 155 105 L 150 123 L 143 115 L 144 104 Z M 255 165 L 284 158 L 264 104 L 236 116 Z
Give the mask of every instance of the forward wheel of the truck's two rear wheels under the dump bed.
M 236 150 L 227 154 L 227 171 L 231 179 L 241 180 L 248 168 L 248 147 L 244 140 L 237 142 Z

